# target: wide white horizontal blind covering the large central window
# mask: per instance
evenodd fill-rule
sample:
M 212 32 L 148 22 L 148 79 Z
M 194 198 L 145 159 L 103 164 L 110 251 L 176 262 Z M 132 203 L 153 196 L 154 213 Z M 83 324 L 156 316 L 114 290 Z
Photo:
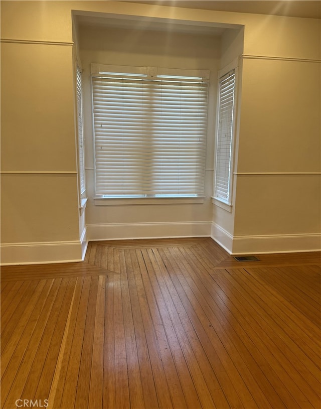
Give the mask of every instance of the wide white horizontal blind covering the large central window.
M 93 77 L 96 196 L 204 194 L 207 83 Z

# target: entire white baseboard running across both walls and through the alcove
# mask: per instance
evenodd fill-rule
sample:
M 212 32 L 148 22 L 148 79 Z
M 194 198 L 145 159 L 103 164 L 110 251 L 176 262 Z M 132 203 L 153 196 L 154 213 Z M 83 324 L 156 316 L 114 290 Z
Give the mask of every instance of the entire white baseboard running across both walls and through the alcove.
M 211 222 L 89 224 L 81 239 L 40 243 L 4 243 L 1 265 L 82 261 L 90 240 L 212 237 L 229 254 L 321 251 L 321 234 L 232 236 Z

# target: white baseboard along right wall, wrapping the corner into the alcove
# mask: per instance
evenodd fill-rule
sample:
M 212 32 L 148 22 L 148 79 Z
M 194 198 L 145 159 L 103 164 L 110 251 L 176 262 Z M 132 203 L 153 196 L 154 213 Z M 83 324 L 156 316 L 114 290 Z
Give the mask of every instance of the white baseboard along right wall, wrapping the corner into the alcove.
M 321 251 L 319 233 L 232 236 L 212 223 L 211 237 L 232 255 Z

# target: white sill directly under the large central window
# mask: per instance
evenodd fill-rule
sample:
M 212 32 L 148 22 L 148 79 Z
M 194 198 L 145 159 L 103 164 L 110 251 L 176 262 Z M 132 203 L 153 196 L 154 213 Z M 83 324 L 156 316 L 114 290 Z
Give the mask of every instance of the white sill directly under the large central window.
M 154 204 L 197 204 L 204 203 L 205 197 L 150 197 L 150 198 L 107 198 L 94 197 L 95 206 L 121 206 L 121 205 L 154 205 Z

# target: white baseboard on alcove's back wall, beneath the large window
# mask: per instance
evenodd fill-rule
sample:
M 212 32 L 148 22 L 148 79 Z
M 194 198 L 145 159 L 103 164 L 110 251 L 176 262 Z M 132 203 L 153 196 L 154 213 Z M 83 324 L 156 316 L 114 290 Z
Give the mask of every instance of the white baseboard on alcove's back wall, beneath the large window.
M 87 224 L 88 240 L 208 237 L 211 222 Z

